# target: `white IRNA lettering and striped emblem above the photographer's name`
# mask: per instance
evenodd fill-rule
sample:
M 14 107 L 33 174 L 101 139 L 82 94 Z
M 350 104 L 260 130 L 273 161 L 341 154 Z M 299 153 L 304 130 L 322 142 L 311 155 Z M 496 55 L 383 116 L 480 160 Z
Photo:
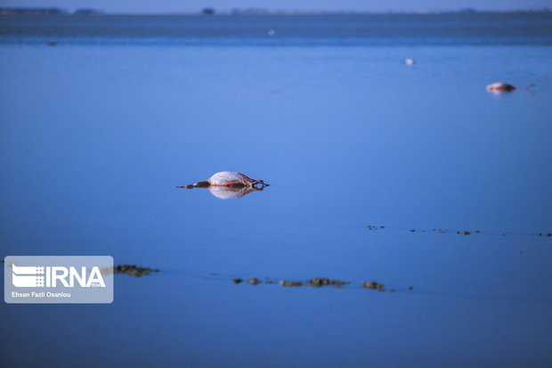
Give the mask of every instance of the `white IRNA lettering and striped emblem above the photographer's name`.
M 12 264 L 12 284 L 16 288 L 105 288 L 100 267 L 16 266 Z

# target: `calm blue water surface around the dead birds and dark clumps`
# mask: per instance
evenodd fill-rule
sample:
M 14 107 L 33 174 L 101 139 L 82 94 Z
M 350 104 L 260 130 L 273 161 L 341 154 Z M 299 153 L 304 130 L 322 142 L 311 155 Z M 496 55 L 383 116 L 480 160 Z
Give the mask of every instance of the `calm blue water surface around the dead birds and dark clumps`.
M 3 303 L 5 364 L 552 364 L 552 16 L 425 17 L 1 17 L 2 256 L 161 270 Z

